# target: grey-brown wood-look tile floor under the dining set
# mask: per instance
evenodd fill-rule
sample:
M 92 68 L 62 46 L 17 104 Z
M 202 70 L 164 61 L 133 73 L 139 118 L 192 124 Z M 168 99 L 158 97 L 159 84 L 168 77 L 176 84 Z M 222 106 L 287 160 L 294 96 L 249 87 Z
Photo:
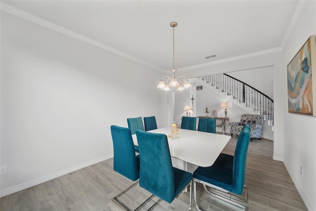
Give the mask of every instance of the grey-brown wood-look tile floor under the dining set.
M 237 137 L 231 138 L 223 153 L 234 155 Z M 253 139 L 249 143 L 245 184 L 250 211 L 306 211 L 284 164 L 272 159 L 273 142 Z M 79 169 L 25 190 L 1 197 L 1 211 L 116 211 L 112 198 L 133 182 L 113 170 L 113 159 Z M 197 204 L 203 211 L 242 210 L 208 195 L 197 183 Z M 119 198 L 134 210 L 151 194 L 136 185 Z M 161 201 L 155 211 L 188 210 L 189 193 L 171 204 Z M 154 198 L 157 201 L 157 198 Z M 152 205 L 154 202 L 151 202 Z M 149 205 L 144 207 L 149 208 Z M 196 208 L 193 206 L 193 210 Z

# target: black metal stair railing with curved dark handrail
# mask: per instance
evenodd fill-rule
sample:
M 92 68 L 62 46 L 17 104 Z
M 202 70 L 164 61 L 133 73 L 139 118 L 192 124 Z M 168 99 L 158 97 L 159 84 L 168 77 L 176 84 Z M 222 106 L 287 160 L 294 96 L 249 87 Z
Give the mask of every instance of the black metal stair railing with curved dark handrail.
M 227 92 L 234 99 L 239 99 L 239 102 L 245 103 L 246 107 L 252 107 L 273 125 L 274 102 L 268 95 L 227 74 L 202 76 L 201 80 Z

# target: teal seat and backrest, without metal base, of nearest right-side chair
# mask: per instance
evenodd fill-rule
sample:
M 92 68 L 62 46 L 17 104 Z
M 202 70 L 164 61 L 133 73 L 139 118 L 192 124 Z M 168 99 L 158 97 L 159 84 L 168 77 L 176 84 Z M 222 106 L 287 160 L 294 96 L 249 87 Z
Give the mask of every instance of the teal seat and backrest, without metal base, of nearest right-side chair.
M 250 126 L 247 124 L 238 136 L 234 156 L 221 154 L 213 166 L 198 167 L 193 173 L 193 177 L 241 195 L 245 180 L 249 141 Z

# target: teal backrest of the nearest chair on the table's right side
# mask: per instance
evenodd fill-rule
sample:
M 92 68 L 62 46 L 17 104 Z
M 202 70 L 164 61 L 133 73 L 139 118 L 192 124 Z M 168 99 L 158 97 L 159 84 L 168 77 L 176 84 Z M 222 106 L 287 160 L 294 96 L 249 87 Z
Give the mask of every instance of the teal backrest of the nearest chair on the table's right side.
M 242 193 L 245 183 L 245 171 L 249 141 L 250 125 L 246 124 L 238 135 L 233 161 L 233 185 L 230 191 L 238 195 Z

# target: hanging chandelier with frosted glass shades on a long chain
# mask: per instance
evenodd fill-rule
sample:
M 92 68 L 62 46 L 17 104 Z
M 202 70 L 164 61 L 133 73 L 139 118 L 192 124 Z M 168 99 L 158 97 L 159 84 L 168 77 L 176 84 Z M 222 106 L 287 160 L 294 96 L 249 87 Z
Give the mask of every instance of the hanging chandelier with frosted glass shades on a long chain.
M 177 78 L 175 77 L 175 72 L 177 71 L 176 69 L 174 69 L 174 27 L 176 27 L 178 24 L 177 22 L 171 22 L 170 26 L 173 29 L 173 69 L 171 70 L 172 72 L 172 79 L 168 76 L 164 76 L 162 77 L 162 79 L 160 80 L 159 84 L 158 84 L 158 88 L 165 90 L 165 91 L 170 91 L 170 87 L 177 87 L 177 91 L 182 91 L 186 88 L 190 88 L 192 87 L 192 85 L 190 84 L 190 82 L 186 79 L 186 77 L 184 76 L 178 76 Z M 181 84 L 180 78 L 183 77 L 184 78 L 184 83 Z M 167 78 L 167 81 L 164 82 L 163 79 Z

